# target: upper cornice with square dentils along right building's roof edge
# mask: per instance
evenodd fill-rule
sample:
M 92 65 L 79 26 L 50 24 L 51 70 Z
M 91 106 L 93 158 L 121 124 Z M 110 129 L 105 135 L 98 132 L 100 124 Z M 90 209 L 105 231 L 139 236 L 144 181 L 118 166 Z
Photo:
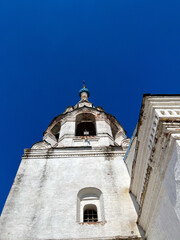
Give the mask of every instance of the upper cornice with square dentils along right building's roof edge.
M 175 133 L 179 131 L 178 122 L 180 122 L 179 96 L 145 96 L 143 98 L 136 133 L 139 147 L 133 159 L 131 174 L 131 190 L 137 197 L 138 203 L 144 185 L 144 174 L 151 154 L 154 152 L 154 146 L 156 147 L 161 123 L 169 123 L 168 129 Z

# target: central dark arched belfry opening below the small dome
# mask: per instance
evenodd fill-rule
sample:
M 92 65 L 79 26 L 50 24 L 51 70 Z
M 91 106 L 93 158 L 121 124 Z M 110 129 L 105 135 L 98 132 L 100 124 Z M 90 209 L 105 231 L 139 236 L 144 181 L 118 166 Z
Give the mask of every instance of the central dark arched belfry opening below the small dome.
M 95 117 L 90 113 L 81 113 L 76 117 L 76 136 L 95 136 Z

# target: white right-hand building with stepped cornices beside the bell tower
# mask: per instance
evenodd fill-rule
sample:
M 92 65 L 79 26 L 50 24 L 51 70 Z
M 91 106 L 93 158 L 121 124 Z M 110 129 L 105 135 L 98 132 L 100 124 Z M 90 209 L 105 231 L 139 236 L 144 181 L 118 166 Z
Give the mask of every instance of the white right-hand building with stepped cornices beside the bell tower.
M 180 239 L 180 96 L 144 96 L 126 154 L 148 240 Z

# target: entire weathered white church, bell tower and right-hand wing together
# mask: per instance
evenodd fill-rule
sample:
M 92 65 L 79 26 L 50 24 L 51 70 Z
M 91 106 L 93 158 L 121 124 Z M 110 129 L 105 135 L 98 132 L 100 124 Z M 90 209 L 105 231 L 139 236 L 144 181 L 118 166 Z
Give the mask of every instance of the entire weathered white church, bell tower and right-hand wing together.
M 179 239 L 180 96 L 144 95 L 128 139 L 89 95 L 24 150 L 0 240 Z

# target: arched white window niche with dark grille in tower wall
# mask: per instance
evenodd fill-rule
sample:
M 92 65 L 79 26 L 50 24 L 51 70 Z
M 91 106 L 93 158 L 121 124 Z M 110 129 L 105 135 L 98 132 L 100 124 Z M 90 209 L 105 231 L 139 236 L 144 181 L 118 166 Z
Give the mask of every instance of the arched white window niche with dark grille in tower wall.
M 77 222 L 104 222 L 102 192 L 98 188 L 83 188 L 77 196 Z

